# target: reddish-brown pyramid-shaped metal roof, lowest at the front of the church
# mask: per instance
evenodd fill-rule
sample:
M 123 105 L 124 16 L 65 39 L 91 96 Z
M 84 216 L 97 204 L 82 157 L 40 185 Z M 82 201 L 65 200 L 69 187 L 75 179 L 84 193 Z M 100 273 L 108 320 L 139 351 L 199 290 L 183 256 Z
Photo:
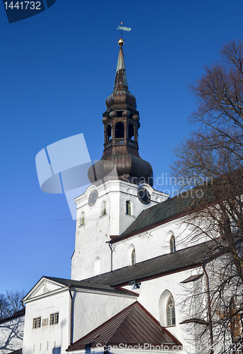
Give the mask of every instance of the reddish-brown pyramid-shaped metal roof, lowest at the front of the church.
M 155 346 L 181 346 L 139 302 L 134 302 L 98 326 L 69 346 L 67 351 L 96 347 L 98 343 L 100 346 L 119 346 L 120 343 L 128 346 L 144 343 Z

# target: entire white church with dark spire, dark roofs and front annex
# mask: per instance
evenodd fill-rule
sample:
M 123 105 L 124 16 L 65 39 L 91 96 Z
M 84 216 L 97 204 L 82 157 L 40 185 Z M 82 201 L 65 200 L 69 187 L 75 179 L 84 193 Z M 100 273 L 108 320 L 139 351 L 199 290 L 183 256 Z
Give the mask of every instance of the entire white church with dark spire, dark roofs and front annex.
M 186 326 L 193 336 L 208 323 L 181 307 L 181 285 L 207 286 L 212 243 L 183 245 L 180 221 L 190 198 L 152 188 L 152 166 L 138 153 L 140 116 L 128 91 L 124 42 L 118 43 L 103 156 L 75 199 L 71 279 L 41 278 L 23 299 L 25 314 L 0 321 L 1 354 L 204 353 Z

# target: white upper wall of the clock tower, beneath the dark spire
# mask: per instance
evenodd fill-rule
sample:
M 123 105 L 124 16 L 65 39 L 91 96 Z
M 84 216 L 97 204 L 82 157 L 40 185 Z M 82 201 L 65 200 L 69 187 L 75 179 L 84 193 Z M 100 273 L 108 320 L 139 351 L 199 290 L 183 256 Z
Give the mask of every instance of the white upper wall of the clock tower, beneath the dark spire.
M 138 200 L 136 185 L 120 180 L 106 181 L 97 187 L 91 185 L 83 195 L 75 199 L 77 227 L 72 256 L 72 279 L 81 280 L 96 275 L 97 257 L 100 258 L 101 273 L 111 271 L 111 249 L 107 244 L 110 237 L 123 232 L 142 210 L 155 205 L 157 198 L 167 198 L 164 193 L 153 191 L 150 186 L 147 188 L 152 193 L 152 202 L 149 205 L 143 205 Z M 93 206 L 89 206 L 89 195 L 94 189 L 98 190 L 98 200 Z M 133 215 L 126 215 L 127 200 L 131 202 Z M 105 215 L 102 212 L 103 202 L 106 202 Z

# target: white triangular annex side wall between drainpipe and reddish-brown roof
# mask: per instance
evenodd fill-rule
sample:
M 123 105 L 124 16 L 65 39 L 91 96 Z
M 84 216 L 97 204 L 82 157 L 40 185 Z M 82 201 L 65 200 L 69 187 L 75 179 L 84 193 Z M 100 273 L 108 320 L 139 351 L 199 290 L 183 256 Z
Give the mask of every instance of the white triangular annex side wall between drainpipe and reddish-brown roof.
M 136 297 L 129 297 L 129 295 L 75 292 L 73 342 L 96 329 L 136 300 Z

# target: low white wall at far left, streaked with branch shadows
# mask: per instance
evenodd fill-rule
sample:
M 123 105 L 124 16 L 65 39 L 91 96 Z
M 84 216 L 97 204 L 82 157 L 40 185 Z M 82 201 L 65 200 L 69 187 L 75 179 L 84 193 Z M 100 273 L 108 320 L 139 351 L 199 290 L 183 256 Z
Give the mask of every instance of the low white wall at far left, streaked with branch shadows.
M 0 321 L 1 354 L 11 353 L 13 350 L 22 348 L 24 322 L 24 314 Z

